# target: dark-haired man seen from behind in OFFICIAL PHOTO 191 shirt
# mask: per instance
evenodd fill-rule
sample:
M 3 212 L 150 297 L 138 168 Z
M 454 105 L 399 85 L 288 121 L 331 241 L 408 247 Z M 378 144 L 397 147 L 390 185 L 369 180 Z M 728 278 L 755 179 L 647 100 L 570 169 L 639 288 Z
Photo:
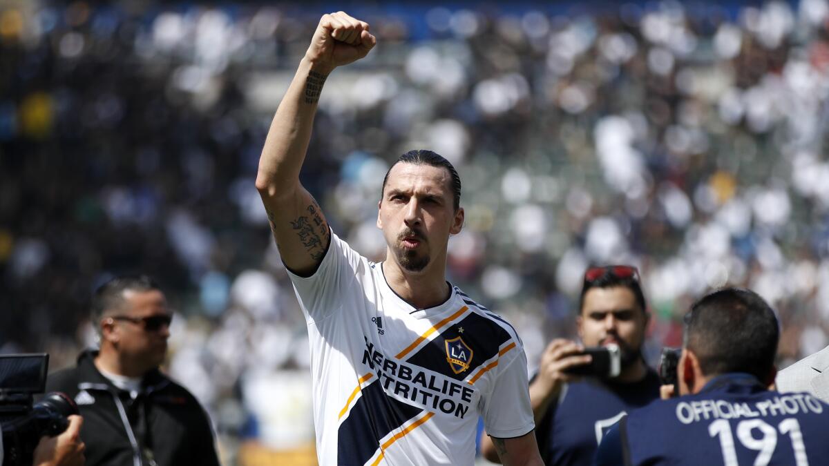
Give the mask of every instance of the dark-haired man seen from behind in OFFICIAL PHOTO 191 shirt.
M 829 405 L 768 390 L 779 339 L 772 309 L 747 289 L 720 289 L 691 306 L 677 366 L 682 396 L 619 421 L 596 464 L 823 464 Z

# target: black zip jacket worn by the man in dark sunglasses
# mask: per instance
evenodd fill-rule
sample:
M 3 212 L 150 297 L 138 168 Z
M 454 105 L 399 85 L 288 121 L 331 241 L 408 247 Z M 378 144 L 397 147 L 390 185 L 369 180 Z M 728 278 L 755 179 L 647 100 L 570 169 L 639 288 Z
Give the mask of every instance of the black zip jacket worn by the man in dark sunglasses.
M 46 391 L 74 399 L 84 417 L 86 466 L 217 466 L 210 420 L 187 389 L 148 372 L 133 400 L 95 368 L 97 352 L 48 377 Z

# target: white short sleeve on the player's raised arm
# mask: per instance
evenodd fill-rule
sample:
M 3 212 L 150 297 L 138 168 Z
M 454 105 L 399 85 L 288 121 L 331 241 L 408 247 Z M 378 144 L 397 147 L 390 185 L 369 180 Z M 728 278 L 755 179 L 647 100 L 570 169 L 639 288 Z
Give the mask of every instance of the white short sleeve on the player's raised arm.
M 299 305 L 308 323 L 326 318 L 340 308 L 343 293 L 356 280 L 355 276 L 367 262 L 347 242 L 332 231 L 325 257 L 310 277 L 301 277 L 288 270 Z M 353 287 L 351 292 L 353 293 Z

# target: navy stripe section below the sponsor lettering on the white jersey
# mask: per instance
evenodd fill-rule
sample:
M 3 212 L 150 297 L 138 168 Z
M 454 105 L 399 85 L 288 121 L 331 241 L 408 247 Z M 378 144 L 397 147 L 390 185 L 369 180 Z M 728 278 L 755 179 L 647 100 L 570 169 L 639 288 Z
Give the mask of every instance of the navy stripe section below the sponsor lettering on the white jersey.
M 366 464 L 380 448 L 381 439 L 421 412 L 421 408 L 387 396 L 379 381 L 365 386 L 337 431 L 337 464 Z

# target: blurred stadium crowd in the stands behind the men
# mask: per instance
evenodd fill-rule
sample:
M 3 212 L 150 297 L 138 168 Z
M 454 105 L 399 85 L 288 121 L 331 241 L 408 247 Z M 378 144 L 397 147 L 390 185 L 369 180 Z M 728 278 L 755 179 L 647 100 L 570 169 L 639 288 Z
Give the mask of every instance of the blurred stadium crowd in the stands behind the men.
M 652 362 L 724 284 L 773 303 L 779 366 L 826 346 L 827 0 L 0 0 L 0 352 L 73 364 L 92 291 L 151 274 L 225 464 L 313 464 L 305 325 L 254 179 L 339 9 L 380 43 L 327 80 L 303 184 L 379 259 L 390 163 L 455 163 L 449 280 L 515 324 L 529 371 L 574 336 L 592 264 L 641 270 Z

